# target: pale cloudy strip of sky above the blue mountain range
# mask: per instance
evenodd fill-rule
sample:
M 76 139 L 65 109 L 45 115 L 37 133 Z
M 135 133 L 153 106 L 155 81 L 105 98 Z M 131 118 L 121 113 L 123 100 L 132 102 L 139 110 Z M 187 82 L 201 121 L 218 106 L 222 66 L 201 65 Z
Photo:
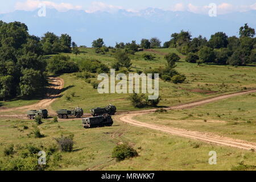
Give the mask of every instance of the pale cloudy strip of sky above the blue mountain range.
M 1 0 L 0 13 L 9 13 L 15 10 L 32 11 L 38 9 L 40 3 L 46 4 L 47 8 L 54 8 L 58 11 L 84 10 L 87 13 L 95 11 L 114 12 L 119 9 L 139 11 L 152 7 L 205 14 L 208 13 L 210 3 L 216 3 L 220 14 L 256 10 L 255 0 Z

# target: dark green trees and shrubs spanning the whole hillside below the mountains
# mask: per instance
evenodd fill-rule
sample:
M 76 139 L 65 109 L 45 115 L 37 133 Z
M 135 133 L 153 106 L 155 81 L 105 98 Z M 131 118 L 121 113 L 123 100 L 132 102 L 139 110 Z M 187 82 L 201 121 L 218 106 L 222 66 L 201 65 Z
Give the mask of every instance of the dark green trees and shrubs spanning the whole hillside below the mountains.
M 255 30 L 247 24 L 240 28 L 240 38 L 228 37 L 217 32 L 209 40 L 199 36 L 193 38 L 188 31 L 171 34 L 171 39 L 163 44 L 154 37 L 142 39 L 140 44 L 116 43 L 107 47 L 103 39 L 92 42 L 97 54 L 106 54 L 112 50 L 116 61 L 112 68 L 127 72 L 131 68 L 130 55 L 149 48 L 176 48 L 186 55 L 186 61 L 197 64 L 247 65 L 256 61 Z M 82 46 L 81 46 L 82 47 Z M 26 24 L 0 21 L 0 98 L 6 100 L 16 96 L 30 97 L 43 92 L 47 84 L 47 72 L 54 74 L 77 72 L 78 77 L 90 77 L 91 73 L 108 72 L 109 68 L 98 60 L 73 61 L 69 56 L 59 53 L 80 54 L 80 49 L 71 36 L 57 36 L 47 32 L 42 38 L 28 34 Z M 47 55 L 55 55 L 49 59 Z M 145 53 L 145 60 L 154 59 L 154 55 Z M 158 69 L 144 70 L 145 73 L 160 73 L 160 77 L 175 84 L 185 80 L 185 76 L 175 71 L 175 62 L 180 57 L 170 53 L 164 57 L 166 65 Z

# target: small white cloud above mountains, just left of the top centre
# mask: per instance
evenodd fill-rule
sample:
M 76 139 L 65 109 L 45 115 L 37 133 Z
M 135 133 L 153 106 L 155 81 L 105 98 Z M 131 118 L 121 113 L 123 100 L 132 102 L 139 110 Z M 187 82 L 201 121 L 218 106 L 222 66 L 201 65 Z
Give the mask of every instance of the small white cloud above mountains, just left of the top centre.
M 106 11 L 106 12 L 114 12 L 118 10 L 122 10 L 122 6 L 114 6 L 114 5 L 107 5 L 103 2 L 92 2 L 92 5 L 89 7 L 88 10 L 85 10 L 86 13 L 94 13 L 96 11 Z M 131 11 L 131 10 L 129 10 Z

